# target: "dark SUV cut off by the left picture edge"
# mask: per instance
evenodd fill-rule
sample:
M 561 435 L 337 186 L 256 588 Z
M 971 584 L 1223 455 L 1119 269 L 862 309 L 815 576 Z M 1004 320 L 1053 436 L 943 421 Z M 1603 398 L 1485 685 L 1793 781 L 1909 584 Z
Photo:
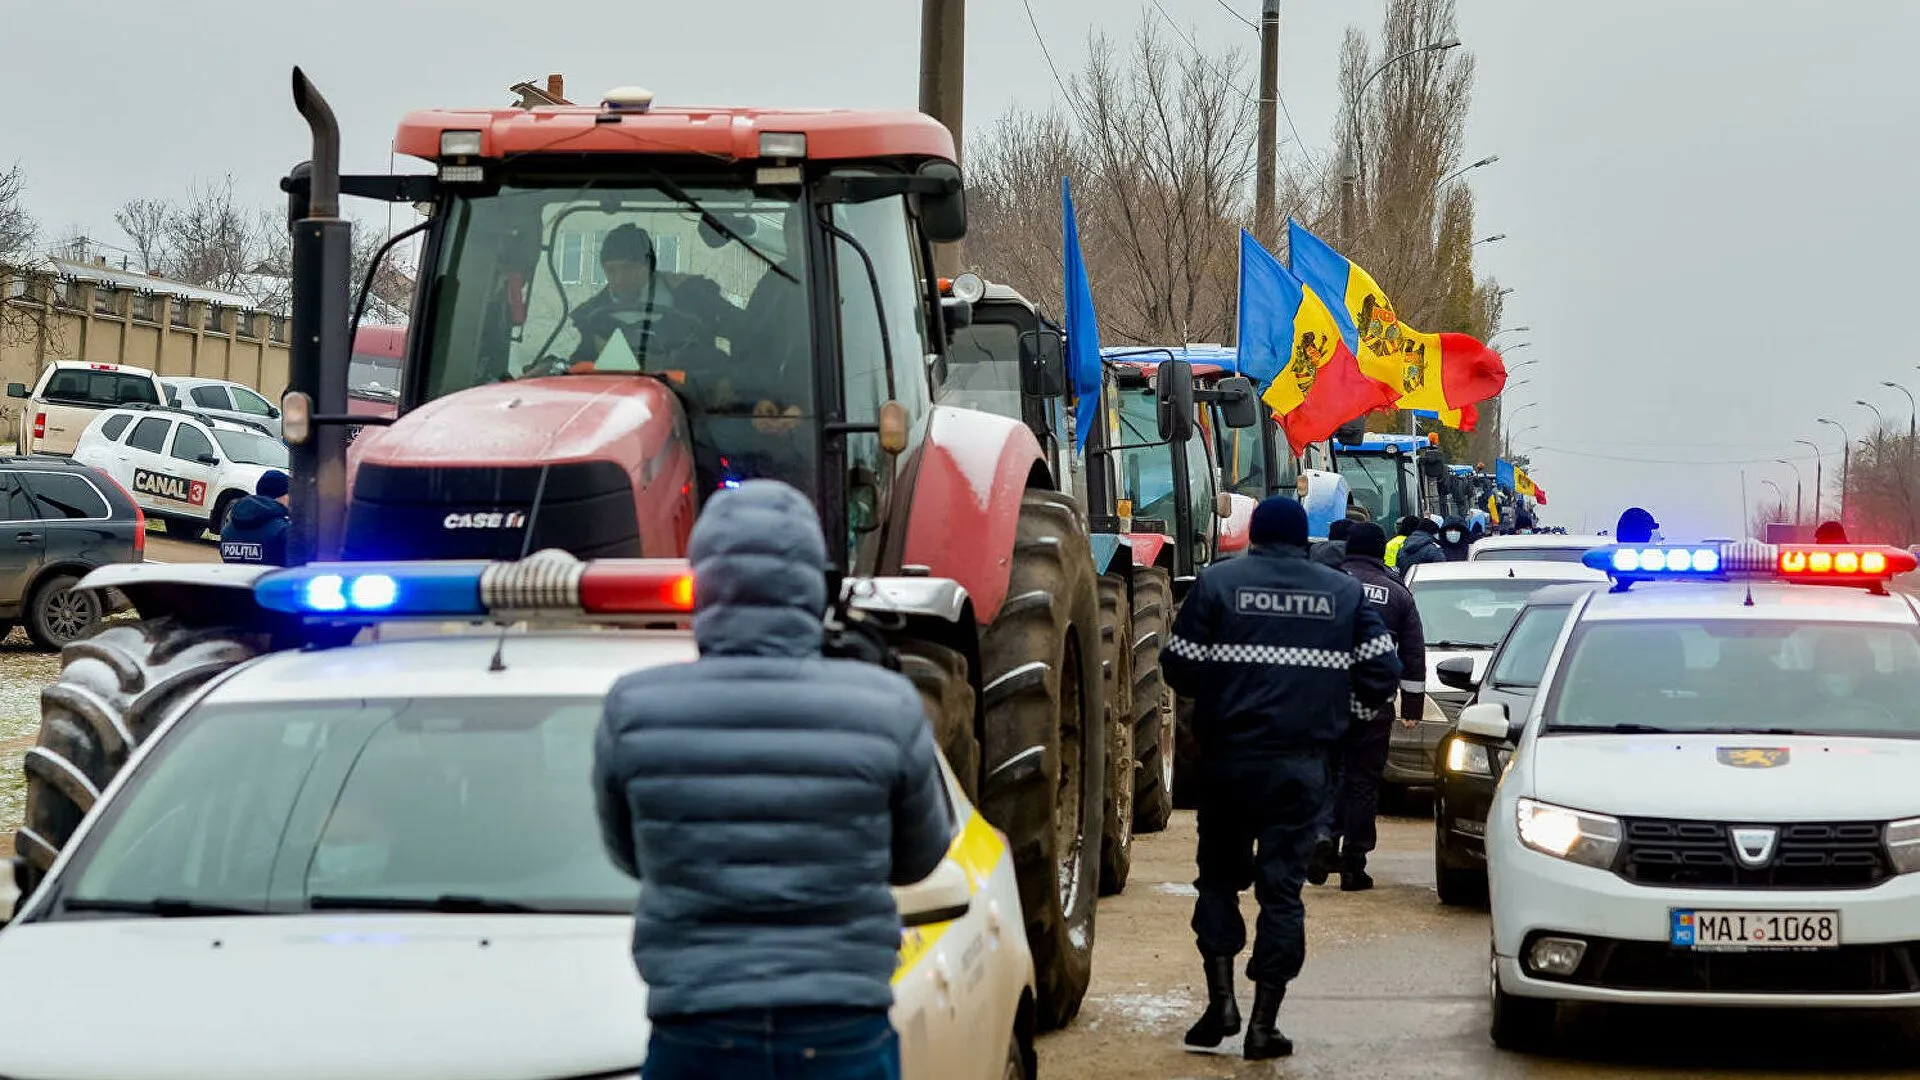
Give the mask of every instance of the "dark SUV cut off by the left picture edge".
M 73 592 L 86 571 L 146 557 L 146 515 L 111 477 L 52 457 L 0 457 L 0 636 L 25 625 L 42 650 L 106 615 Z

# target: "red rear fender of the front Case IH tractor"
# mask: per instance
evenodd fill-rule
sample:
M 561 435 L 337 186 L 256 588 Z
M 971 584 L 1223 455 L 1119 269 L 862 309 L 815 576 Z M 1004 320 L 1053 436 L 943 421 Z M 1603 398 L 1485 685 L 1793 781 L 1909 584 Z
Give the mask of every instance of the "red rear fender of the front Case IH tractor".
M 925 432 L 899 565 L 958 582 L 985 626 L 1006 601 L 1020 500 L 1029 486 L 1052 488 L 1046 457 L 1027 425 L 975 409 L 935 407 Z

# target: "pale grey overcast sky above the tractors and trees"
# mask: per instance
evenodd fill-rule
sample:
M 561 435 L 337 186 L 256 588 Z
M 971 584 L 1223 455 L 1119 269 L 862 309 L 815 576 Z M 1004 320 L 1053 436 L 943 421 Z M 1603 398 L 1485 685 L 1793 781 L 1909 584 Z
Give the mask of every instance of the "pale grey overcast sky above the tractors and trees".
M 1254 50 L 1258 0 L 1158 0 L 1206 48 Z M 259 202 L 303 158 L 288 98 L 301 63 L 332 98 L 348 169 L 388 165 L 407 108 L 505 104 L 549 71 L 593 100 L 639 83 L 662 102 L 912 106 L 912 0 L 0 0 L 0 161 L 27 171 L 50 234 L 125 242 L 113 208 L 232 173 Z M 972 0 L 968 127 L 1043 106 L 1052 75 L 1021 0 Z M 1788 496 L 1814 438 L 1839 469 L 1878 404 L 1907 423 L 1920 338 L 1905 336 L 1920 254 L 1920 81 L 1905 0 L 1459 0 L 1478 61 L 1469 158 L 1482 267 L 1532 327 L 1509 409 L 1551 496 L 1548 521 L 1611 525 L 1634 502 L 1667 536 L 1738 534 L 1749 500 Z M 1033 0 L 1062 71 L 1087 35 L 1160 19 L 1152 0 Z M 564 17 L 563 17 L 564 15 Z M 1348 23 L 1371 0 L 1283 0 L 1281 88 L 1308 152 L 1327 144 Z M 1283 142 L 1292 135 L 1283 123 Z M 1288 148 L 1292 150 L 1292 148 Z M 1096 298 L 1098 300 L 1098 298 Z M 1832 502 L 1832 500 L 1830 500 Z

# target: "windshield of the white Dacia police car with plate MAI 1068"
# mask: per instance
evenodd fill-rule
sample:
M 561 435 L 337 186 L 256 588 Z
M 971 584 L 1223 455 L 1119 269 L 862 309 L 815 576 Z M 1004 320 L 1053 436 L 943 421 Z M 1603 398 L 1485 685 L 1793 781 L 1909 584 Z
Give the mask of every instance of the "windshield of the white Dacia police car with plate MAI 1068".
M 1546 730 L 1920 738 L 1912 626 L 1599 621 L 1559 671 Z

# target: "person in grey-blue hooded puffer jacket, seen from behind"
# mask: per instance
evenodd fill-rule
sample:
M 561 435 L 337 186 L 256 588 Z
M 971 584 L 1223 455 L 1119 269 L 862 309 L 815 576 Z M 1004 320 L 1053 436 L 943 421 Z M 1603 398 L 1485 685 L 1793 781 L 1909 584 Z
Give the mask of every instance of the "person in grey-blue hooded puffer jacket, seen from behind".
M 620 678 L 593 746 L 607 853 L 645 882 L 647 1078 L 899 1076 L 887 886 L 954 836 L 920 694 L 822 655 L 826 540 L 801 492 L 712 496 L 687 555 L 701 657 Z

